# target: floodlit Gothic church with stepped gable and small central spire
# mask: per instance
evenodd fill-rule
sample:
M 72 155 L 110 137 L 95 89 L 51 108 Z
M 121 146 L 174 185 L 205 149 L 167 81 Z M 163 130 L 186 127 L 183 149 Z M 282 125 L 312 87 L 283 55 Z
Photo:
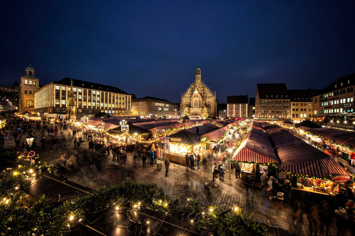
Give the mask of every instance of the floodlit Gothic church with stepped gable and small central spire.
M 181 94 L 180 115 L 185 108 L 189 111 L 189 117 L 201 119 L 203 107 L 207 108 L 210 117 L 217 117 L 216 93 L 212 92 L 201 80 L 201 69 L 197 65 L 195 82 Z

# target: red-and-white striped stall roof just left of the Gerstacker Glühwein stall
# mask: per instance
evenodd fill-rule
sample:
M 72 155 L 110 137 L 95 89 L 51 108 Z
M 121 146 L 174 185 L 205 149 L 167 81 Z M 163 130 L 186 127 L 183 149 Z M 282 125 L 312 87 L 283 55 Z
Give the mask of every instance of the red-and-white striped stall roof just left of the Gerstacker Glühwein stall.
M 269 135 L 260 129 L 251 129 L 237 148 L 232 161 L 278 163 Z

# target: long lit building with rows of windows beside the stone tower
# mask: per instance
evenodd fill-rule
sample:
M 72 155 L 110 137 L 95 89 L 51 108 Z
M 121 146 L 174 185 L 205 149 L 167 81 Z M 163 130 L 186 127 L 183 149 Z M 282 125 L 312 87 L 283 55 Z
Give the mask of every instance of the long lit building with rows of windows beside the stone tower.
M 115 116 L 131 116 L 131 95 L 113 86 L 65 78 L 40 88 L 34 94 L 35 112 L 67 114 L 67 101 L 73 82 L 77 117 L 106 112 Z

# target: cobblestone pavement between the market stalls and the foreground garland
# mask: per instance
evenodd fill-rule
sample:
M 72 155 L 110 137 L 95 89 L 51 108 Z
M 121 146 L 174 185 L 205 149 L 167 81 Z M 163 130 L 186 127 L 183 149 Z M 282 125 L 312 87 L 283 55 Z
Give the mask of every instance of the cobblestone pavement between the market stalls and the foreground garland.
M 66 136 L 67 137 L 67 136 Z M 11 142 L 11 140 L 9 140 Z M 12 141 L 13 142 L 13 141 Z M 40 150 L 38 153 L 42 161 L 48 164 L 55 164 L 60 155 L 73 152 L 72 139 L 67 139 L 67 145 L 60 150 L 48 152 L 48 150 Z M 87 147 L 87 143 L 83 144 L 83 148 Z M 137 182 L 145 181 L 147 183 L 156 182 L 158 186 L 164 188 L 165 193 L 173 198 L 178 198 L 181 204 L 188 204 L 188 198 L 200 199 L 201 204 L 208 206 L 210 204 L 217 205 L 222 210 L 228 210 L 232 206 L 237 205 L 243 212 L 252 214 L 255 220 L 260 221 L 269 226 L 269 231 L 273 235 L 294 235 L 295 227 L 292 223 L 292 209 L 284 204 L 284 212 L 281 217 L 275 216 L 275 210 L 270 204 L 268 218 L 261 213 L 262 202 L 258 196 L 258 191 L 255 193 L 247 193 L 240 179 L 236 179 L 233 173 L 229 178 L 229 170 L 227 168 L 225 181 L 220 182 L 218 187 L 215 187 L 212 182 L 212 167 L 201 171 L 190 172 L 186 171 L 185 167 L 171 163 L 168 177 L 165 177 L 165 168 L 157 170 L 157 166 L 142 167 L 142 163 L 137 163 L 133 167 L 132 155 L 127 158 L 126 165 L 119 165 L 117 162 L 111 161 L 112 156 L 106 158 L 102 162 L 101 171 L 98 173 L 91 172 L 88 167 L 81 167 L 76 173 L 69 174 L 68 180 L 97 189 L 100 186 L 111 186 L 118 184 L 126 177 L 130 177 Z M 275 228 L 272 229 L 272 228 Z M 329 235 L 336 235 L 335 219 L 330 227 Z M 302 226 L 301 235 L 309 235 L 308 220 L 304 215 L 304 225 Z M 350 235 L 348 233 L 348 235 Z

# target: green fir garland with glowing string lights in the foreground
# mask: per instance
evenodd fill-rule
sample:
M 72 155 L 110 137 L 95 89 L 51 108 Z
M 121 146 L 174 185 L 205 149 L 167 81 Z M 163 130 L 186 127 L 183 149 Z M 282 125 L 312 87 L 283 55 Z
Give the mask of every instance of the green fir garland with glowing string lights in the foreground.
M 23 206 L 24 190 L 42 171 L 51 171 L 45 163 L 41 166 L 8 169 L 0 182 L 0 232 L 2 235 L 64 235 L 73 226 L 88 224 L 116 210 L 118 214 L 139 207 L 146 207 L 170 217 L 192 222 L 198 229 L 211 235 L 268 235 L 266 227 L 256 223 L 252 216 L 240 210 L 222 212 L 217 207 L 202 208 L 198 200 L 189 200 L 188 206 L 180 206 L 179 200 L 164 194 L 155 183 L 138 184 L 129 178 L 112 187 L 101 187 L 91 195 L 65 201 L 59 206 L 48 202 L 44 196 L 32 207 Z M 135 225 L 146 222 L 132 219 Z

